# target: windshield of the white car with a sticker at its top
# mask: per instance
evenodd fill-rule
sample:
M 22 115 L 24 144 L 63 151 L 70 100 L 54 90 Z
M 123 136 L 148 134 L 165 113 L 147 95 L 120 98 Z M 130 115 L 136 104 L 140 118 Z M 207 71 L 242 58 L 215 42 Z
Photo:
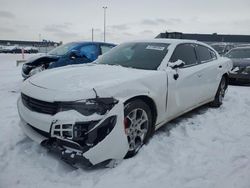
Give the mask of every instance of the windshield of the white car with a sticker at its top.
M 167 54 L 166 43 L 124 43 L 101 56 L 97 63 L 156 70 Z

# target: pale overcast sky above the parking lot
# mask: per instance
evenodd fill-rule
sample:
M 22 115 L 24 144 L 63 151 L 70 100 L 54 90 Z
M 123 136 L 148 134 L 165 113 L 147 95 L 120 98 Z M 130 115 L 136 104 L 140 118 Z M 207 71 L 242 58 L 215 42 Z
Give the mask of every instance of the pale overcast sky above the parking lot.
M 250 35 L 250 0 L 0 0 L 0 39 L 154 38 L 160 32 Z

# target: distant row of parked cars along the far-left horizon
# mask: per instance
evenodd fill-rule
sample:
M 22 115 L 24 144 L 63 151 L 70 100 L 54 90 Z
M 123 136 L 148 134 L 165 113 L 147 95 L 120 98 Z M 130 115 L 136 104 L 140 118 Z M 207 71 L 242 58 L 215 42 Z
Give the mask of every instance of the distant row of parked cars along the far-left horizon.
M 36 47 L 20 47 L 20 46 L 0 46 L 0 53 L 11 53 L 11 54 L 19 54 L 22 53 L 38 53 L 38 49 Z

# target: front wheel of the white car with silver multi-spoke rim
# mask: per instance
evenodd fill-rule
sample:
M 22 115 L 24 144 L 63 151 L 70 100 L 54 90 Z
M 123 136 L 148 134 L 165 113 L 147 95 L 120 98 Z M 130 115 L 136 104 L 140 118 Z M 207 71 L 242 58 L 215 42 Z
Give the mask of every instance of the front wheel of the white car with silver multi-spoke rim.
M 124 126 L 129 150 L 125 158 L 135 156 L 152 135 L 152 113 L 142 100 L 133 100 L 125 104 Z

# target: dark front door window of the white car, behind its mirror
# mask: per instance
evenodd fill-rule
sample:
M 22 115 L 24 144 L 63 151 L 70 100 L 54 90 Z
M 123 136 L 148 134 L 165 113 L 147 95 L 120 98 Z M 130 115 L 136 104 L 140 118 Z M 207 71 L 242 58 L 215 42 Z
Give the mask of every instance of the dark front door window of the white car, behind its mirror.
M 170 62 L 176 62 L 177 60 L 182 60 L 185 63 L 185 66 L 198 64 L 194 46 L 192 44 L 178 45 L 170 59 Z

